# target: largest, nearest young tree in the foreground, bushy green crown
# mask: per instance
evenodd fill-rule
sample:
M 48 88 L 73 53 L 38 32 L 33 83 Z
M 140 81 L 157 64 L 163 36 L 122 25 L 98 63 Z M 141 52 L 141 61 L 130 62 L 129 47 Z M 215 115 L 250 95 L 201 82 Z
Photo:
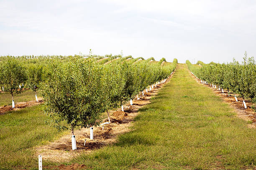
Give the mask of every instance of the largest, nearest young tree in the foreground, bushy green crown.
M 53 64 L 50 69 L 40 89 L 44 111 L 51 117 L 48 123 L 58 130 L 71 130 L 72 138 L 75 127 L 99 125 L 97 120 L 107 108 L 102 67 L 92 58 L 77 58 L 65 65 Z

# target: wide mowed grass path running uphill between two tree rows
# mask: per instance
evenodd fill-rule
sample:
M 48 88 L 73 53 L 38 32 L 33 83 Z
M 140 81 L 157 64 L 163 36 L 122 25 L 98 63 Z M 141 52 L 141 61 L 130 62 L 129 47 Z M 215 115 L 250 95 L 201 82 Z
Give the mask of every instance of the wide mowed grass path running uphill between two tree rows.
M 256 130 L 179 64 L 131 132 L 71 163 L 88 169 L 255 169 Z

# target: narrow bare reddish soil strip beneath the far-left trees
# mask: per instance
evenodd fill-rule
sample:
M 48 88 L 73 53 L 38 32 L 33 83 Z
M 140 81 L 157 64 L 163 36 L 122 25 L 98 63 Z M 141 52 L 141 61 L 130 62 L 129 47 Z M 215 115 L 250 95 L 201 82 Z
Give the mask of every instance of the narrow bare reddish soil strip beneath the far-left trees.
M 8 112 L 10 110 L 20 110 L 21 108 L 24 108 L 24 107 L 31 107 L 34 105 L 39 105 L 42 102 L 44 102 L 43 98 L 38 97 L 38 102 L 36 100 L 31 100 L 28 102 L 17 102 L 17 103 L 15 103 L 15 108 L 13 108 L 12 105 L 1 106 L 0 107 L 0 115 L 4 115 L 6 112 Z

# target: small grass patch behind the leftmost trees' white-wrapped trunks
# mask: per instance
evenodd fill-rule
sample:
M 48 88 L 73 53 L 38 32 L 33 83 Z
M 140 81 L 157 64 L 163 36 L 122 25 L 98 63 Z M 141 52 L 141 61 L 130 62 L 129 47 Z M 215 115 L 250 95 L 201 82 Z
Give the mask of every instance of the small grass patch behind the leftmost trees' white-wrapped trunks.
M 37 92 L 37 97 L 41 97 L 39 92 Z M 14 102 L 27 102 L 31 100 L 36 100 L 35 92 L 32 90 L 25 90 L 24 92 L 13 96 Z M 10 93 L 4 92 L 0 93 L 0 106 L 12 105 L 12 96 Z

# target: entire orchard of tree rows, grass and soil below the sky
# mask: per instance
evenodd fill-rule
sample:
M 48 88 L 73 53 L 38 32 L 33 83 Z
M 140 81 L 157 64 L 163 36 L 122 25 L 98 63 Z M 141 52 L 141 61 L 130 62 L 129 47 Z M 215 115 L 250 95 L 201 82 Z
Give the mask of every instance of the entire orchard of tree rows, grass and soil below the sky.
M 254 59 L 177 62 L 0 57 L 0 169 L 256 169 Z

